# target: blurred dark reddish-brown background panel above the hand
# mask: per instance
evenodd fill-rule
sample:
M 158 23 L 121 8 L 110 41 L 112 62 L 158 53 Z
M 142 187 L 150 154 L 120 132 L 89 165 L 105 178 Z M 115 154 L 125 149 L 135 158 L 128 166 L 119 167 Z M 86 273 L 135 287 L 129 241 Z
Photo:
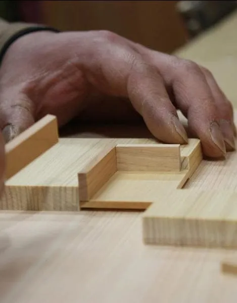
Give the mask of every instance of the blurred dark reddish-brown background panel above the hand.
M 70 31 L 110 30 L 169 53 L 188 39 L 176 4 L 177 1 L 41 1 L 44 24 Z

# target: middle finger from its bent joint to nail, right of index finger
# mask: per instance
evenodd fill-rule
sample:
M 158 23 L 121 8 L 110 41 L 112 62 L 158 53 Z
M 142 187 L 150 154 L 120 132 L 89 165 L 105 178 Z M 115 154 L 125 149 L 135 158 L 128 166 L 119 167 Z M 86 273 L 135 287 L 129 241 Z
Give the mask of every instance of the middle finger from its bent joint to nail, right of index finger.
M 179 68 L 174 70 L 172 87 L 175 101 L 187 117 L 192 135 L 200 138 L 206 156 L 225 156 L 221 119 L 205 75 L 197 64 L 188 61 L 181 61 Z

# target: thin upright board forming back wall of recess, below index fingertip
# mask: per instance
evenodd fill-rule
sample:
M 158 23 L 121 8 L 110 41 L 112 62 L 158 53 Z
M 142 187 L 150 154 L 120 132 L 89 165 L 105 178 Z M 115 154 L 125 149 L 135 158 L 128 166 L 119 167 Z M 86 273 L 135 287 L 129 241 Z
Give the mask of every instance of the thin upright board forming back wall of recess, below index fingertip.
M 122 171 L 180 171 L 178 144 L 117 145 L 116 157 Z

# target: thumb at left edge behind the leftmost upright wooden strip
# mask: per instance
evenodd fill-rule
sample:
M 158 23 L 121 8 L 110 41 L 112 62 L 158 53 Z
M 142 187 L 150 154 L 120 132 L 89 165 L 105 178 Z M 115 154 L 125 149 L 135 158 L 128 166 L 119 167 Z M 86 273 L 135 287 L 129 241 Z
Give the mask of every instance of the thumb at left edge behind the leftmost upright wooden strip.
M 0 100 L 3 99 L 0 97 Z M 6 143 L 35 122 L 32 102 L 24 95 L 4 99 L 0 108 L 2 133 Z

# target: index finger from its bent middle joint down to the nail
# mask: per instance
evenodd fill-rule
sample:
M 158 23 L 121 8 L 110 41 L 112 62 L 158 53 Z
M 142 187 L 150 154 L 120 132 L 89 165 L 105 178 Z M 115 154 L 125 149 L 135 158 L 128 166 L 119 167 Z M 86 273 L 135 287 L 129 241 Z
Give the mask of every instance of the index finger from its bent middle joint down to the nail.
M 135 65 L 127 78 L 127 93 L 150 132 L 165 143 L 185 144 L 187 135 L 158 71 Z

